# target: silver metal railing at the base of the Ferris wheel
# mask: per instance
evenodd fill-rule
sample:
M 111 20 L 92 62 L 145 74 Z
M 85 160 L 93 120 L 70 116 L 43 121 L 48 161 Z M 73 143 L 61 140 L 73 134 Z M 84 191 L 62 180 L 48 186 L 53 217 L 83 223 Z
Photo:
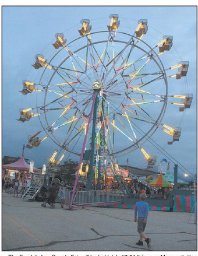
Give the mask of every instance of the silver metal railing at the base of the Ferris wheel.
M 104 204 L 121 202 L 123 192 L 119 190 L 77 191 L 73 205 Z

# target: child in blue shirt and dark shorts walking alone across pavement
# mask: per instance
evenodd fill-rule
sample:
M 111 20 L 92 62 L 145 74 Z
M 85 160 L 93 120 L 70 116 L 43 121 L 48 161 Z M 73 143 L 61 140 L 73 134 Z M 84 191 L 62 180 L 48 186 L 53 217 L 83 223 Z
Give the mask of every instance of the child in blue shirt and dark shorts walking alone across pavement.
M 147 247 L 151 247 L 151 239 L 147 238 L 144 234 L 144 229 L 146 227 L 147 218 L 149 215 L 149 204 L 146 201 L 146 194 L 140 195 L 140 201 L 136 202 L 135 206 L 135 219 L 134 222 L 137 222 L 137 232 L 140 234 L 140 240 L 136 243 L 137 246 L 143 246 L 143 238 L 147 243 Z M 138 218 L 137 218 L 138 212 Z

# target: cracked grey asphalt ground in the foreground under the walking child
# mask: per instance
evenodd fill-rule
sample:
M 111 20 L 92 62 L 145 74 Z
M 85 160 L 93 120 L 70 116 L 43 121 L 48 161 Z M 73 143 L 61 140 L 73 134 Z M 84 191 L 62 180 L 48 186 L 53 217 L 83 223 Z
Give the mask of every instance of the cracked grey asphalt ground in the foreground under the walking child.
M 145 230 L 152 240 L 149 249 L 145 242 L 136 245 L 133 209 L 63 211 L 60 204 L 55 209 L 41 204 L 2 193 L 2 251 L 197 251 L 194 213 L 150 211 Z

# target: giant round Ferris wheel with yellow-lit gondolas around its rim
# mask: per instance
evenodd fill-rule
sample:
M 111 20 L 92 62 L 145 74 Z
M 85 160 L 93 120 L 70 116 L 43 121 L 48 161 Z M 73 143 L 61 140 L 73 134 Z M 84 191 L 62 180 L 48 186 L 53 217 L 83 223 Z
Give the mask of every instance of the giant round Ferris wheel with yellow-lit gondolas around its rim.
M 19 121 L 37 116 L 42 127 L 29 136 L 26 147 L 36 148 L 50 138 L 62 150 L 59 157 L 55 150 L 52 164 L 58 165 L 65 152 L 83 154 L 85 160 L 91 155 L 92 164 L 105 173 L 108 157 L 139 149 L 151 167 L 156 156 L 143 145 L 154 132 L 165 132 L 168 144 L 181 136 L 181 127 L 162 120 L 167 104 L 184 111 L 192 103 L 192 94 L 171 94 L 168 87 L 169 79 L 186 76 L 189 62 L 164 66 L 160 55 L 171 50 L 173 37 L 149 45 L 143 40 L 146 19 L 137 22 L 133 34 L 119 30 L 118 15 L 109 19 L 104 30 L 94 32 L 89 19 L 81 20 L 79 37 L 69 42 L 55 34 L 55 55 L 49 60 L 35 56 L 33 67 L 43 69 L 38 81 L 23 81 L 21 93 L 36 93 L 36 106 L 22 108 Z

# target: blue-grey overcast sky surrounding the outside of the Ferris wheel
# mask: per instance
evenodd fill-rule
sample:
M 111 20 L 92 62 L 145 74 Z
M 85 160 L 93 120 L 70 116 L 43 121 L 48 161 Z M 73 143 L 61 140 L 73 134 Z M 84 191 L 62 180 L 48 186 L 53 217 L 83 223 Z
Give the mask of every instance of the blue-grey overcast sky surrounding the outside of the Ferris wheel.
M 189 71 L 185 78 L 172 82 L 168 86 L 168 94 L 193 93 L 190 109 L 179 112 L 178 107 L 167 107 L 164 123 L 172 127 L 182 127 L 179 142 L 167 145 L 170 137 L 162 132 L 155 132 L 153 140 L 169 155 L 165 155 L 155 148 L 153 143 L 147 143 L 144 148 L 151 155 L 157 155 L 157 164 L 161 159 L 170 161 L 171 172 L 174 162 L 181 166 L 179 176 L 196 173 L 196 7 L 195 6 L 4 6 L 2 12 L 2 157 L 21 156 L 23 144 L 27 144 L 27 137 L 34 131 L 40 131 L 40 122 L 35 118 L 33 122 L 19 122 L 19 109 L 22 107 L 36 107 L 36 95 L 24 96 L 23 80 L 38 79 L 40 72 L 33 70 L 34 55 L 52 56 L 55 49 L 56 33 L 65 34 L 65 38 L 72 40 L 79 37 L 80 20 L 90 19 L 93 31 L 106 30 L 109 15 L 117 13 L 121 20 L 119 29 L 133 34 L 137 27 L 137 20 L 147 19 L 149 30 L 143 40 L 154 46 L 161 41 L 162 36 L 174 37 L 174 44 L 167 59 L 162 59 L 165 68 L 178 64 L 179 61 L 189 61 Z M 47 50 L 48 48 L 50 50 Z M 48 57 L 49 59 L 49 57 Z M 168 60 L 169 59 L 169 60 Z M 176 87 L 177 86 L 177 87 Z M 34 129 L 36 128 L 36 129 Z M 35 167 L 47 164 L 57 146 L 54 142 L 44 141 L 38 148 L 25 149 L 25 157 L 33 160 Z M 142 152 L 130 153 L 119 159 L 119 164 L 126 164 L 139 168 L 146 168 Z M 174 157 L 174 160 L 170 157 Z M 76 156 L 70 155 L 73 160 Z M 164 163 L 163 163 L 164 164 Z M 187 171 L 188 170 L 188 171 Z M 192 176 L 191 176 L 192 177 Z

